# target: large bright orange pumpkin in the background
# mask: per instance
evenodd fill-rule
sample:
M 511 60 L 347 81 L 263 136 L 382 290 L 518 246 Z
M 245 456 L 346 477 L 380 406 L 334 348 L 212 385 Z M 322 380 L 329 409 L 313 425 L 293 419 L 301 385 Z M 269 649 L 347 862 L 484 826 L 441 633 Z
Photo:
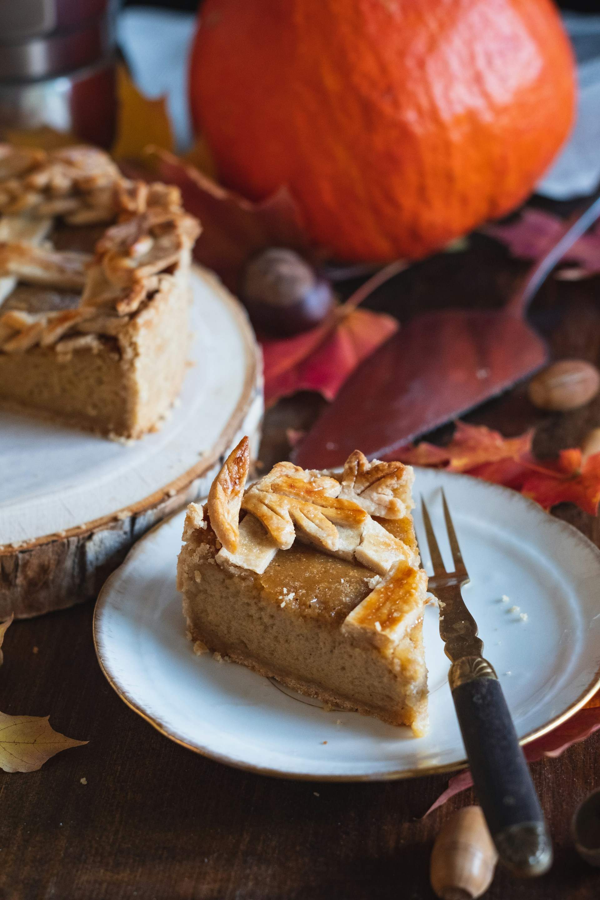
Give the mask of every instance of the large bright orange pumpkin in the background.
M 422 257 L 524 200 L 569 133 L 551 0 L 205 0 L 193 120 L 338 257 Z

